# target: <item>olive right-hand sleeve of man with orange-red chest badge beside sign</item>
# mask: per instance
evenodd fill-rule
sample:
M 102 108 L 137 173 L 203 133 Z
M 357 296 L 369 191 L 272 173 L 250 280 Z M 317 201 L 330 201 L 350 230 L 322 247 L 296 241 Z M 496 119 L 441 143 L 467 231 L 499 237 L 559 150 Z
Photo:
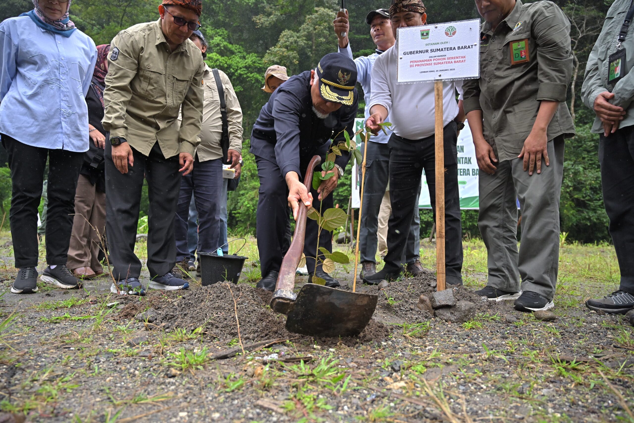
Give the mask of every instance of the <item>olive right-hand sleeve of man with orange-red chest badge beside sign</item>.
M 534 20 L 537 42 L 537 77 L 540 87 L 537 99 L 566 101 L 566 92 L 573 75 L 570 22 L 564 12 L 551 4 Z

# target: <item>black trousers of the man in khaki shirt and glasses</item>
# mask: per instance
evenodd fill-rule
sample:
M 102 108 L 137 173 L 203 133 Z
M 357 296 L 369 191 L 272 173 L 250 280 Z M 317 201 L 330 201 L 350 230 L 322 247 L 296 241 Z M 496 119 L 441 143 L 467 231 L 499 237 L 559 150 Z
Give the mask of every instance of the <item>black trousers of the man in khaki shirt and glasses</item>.
M 150 278 L 163 276 L 176 264 L 174 217 L 181 186 L 178 155 L 165 159 L 159 143 L 147 157 L 132 148 L 134 166 L 126 174 L 112 161 L 112 145 L 106 141 L 106 236 L 112 275 L 117 280 L 138 278 L 141 261 L 134 254 L 141 206 L 143 178 L 148 181 L 148 261 Z M 50 182 L 49 182 L 50 185 Z

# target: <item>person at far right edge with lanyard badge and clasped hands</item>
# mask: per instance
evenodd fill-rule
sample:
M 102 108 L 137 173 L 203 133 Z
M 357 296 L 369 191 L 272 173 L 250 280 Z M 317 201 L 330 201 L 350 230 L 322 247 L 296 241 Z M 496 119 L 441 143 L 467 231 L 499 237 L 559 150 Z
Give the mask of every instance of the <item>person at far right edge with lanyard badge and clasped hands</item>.
M 634 3 L 616 0 L 607 12 L 586 65 L 583 103 L 595 114 L 592 132 L 601 134 L 598 159 L 605 212 L 619 260 L 619 289 L 586 306 L 605 313 L 634 309 Z M 624 25 L 629 20 L 628 25 Z

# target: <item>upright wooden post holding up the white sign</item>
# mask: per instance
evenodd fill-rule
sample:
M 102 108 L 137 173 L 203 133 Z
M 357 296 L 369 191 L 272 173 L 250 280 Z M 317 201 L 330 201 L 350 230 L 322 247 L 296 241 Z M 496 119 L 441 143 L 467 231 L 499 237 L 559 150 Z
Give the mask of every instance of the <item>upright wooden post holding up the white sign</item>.
M 436 106 L 436 279 L 437 290 L 442 291 L 445 289 L 443 81 L 434 82 L 434 94 Z

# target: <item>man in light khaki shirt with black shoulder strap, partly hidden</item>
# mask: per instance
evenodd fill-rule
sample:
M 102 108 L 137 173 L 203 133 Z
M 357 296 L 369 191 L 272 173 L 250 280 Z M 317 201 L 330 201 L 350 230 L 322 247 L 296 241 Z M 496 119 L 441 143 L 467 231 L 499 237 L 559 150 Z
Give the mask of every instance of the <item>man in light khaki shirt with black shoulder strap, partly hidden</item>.
M 200 52 L 205 54 L 207 48 L 204 36 L 195 31 L 191 36 Z M 242 108 L 238 103 L 231 81 L 227 75 L 218 70 L 224 91 L 224 102 L 227 112 L 229 150 L 227 161 L 231 167 L 240 166 L 240 151 L 242 150 Z M 223 120 L 221 118 L 220 98 L 216 78 L 212 69 L 205 65 L 204 103 L 202 108 L 202 130 L 200 131 L 200 145 L 195 152 L 194 169 L 190 174 L 183 175 L 181 191 L 179 193 L 176 212 L 176 265 L 174 273 L 186 274 L 189 261 L 193 258 L 187 245 L 188 217 L 190 212 L 191 195 L 193 193 L 196 210 L 198 212 L 198 252 L 215 252 L 221 245 L 220 212 L 223 202 L 226 204 L 226 180 L 223 178 L 223 150 L 221 138 L 223 136 Z M 224 194 L 224 198 L 223 198 Z

